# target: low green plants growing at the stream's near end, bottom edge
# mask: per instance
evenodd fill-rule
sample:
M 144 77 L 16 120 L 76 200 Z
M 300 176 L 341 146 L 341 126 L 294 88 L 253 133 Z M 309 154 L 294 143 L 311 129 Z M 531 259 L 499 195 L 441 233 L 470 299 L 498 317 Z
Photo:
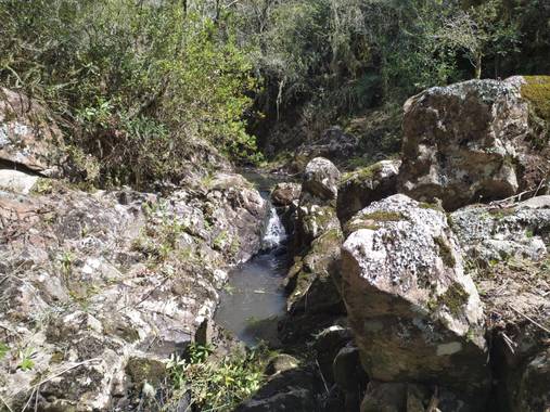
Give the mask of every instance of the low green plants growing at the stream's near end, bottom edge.
M 177 394 L 189 392 L 201 411 L 230 411 L 259 389 L 264 379 L 263 349 L 208 361 L 212 348 L 192 345 L 189 359 L 176 356 L 167 364 Z M 177 398 L 177 396 L 176 396 Z

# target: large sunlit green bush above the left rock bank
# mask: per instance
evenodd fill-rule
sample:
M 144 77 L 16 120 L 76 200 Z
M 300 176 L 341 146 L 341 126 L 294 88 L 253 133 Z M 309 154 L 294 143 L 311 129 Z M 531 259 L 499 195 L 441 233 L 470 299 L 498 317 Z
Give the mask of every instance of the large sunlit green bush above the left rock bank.
M 85 179 L 178 178 L 197 140 L 256 160 L 243 121 L 252 65 L 229 25 L 193 5 L 2 0 L 0 80 L 48 103 L 77 160 L 99 162 Z

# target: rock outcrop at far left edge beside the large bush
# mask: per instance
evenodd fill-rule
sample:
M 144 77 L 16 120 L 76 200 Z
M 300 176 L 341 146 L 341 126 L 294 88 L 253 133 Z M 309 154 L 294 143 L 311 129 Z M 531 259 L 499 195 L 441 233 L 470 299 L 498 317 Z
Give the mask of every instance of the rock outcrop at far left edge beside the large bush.
M 59 176 L 63 137 L 47 111 L 26 95 L 0 88 L 0 163 Z

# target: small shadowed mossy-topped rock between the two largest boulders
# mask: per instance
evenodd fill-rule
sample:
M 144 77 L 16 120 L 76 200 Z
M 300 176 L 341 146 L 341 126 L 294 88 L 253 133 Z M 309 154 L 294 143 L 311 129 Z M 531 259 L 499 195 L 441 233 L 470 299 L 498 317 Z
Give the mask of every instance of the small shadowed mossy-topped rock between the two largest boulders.
M 401 160 L 382 160 L 344 175 L 338 186 L 337 215 L 346 222 L 357 211 L 396 193 Z

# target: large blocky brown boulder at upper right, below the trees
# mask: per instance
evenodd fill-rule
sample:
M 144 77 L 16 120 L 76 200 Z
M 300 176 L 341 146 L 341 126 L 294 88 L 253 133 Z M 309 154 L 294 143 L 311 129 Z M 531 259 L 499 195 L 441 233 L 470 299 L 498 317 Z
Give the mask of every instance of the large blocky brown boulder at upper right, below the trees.
M 471 80 L 409 99 L 399 191 L 455 210 L 535 190 L 549 150 L 532 128 L 529 81 Z

